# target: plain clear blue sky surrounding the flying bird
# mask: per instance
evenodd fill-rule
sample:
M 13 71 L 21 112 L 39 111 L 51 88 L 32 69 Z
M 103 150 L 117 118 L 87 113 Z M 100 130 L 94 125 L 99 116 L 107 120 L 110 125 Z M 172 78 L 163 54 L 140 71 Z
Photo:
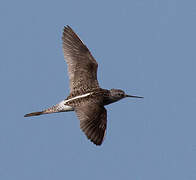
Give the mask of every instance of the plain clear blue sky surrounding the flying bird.
M 66 98 L 62 30 L 99 63 L 107 106 L 97 147 L 74 112 L 24 118 Z M 0 179 L 196 179 L 195 0 L 1 0 Z

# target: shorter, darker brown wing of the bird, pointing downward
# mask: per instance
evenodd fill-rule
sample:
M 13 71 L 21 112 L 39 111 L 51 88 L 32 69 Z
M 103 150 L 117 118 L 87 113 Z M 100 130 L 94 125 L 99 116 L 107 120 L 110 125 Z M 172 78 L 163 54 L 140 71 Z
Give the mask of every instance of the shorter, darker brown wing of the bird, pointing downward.
M 101 145 L 107 126 L 107 110 L 95 103 L 85 103 L 75 108 L 80 128 L 94 144 Z

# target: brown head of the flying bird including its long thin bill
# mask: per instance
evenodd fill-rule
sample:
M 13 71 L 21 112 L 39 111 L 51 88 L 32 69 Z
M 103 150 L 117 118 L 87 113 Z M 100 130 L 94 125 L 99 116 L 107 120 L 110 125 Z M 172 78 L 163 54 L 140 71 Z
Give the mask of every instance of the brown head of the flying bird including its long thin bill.
M 110 95 L 113 101 L 119 101 L 120 99 L 126 98 L 126 97 L 132 97 L 132 98 L 143 98 L 141 96 L 132 96 L 125 94 L 125 92 L 121 89 L 111 89 Z

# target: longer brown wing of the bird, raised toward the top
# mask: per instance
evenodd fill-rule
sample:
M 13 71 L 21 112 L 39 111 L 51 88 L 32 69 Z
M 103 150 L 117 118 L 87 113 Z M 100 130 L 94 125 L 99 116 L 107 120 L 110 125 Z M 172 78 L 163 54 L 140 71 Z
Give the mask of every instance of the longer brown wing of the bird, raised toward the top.
M 99 88 L 96 60 L 71 27 L 64 27 L 63 52 L 68 65 L 70 91 Z

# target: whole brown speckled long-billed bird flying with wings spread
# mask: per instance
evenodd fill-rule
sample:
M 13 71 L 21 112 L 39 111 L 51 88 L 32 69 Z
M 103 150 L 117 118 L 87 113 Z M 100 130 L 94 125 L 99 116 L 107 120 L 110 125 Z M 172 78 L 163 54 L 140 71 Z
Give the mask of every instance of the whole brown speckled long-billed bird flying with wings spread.
M 70 94 L 60 103 L 24 117 L 75 111 L 80 120 L 80 128 L 87 138 L 94 144 L 101 145 L 107 126 L 107 110 L 104 106 L 126 97 L 143 97 L 127 95 L 120 89 L 102 89 L 97 80 L 96 60 L 70 26 L 64 27 L 62 41 L 68 66 Z

